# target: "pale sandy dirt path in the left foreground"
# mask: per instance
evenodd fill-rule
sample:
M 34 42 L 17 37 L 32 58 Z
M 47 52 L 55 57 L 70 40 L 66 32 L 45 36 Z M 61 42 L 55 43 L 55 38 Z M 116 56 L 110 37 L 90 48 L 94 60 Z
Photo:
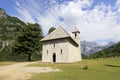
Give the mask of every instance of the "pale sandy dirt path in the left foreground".
M 26 80 L 29 79 L 32 73 L 60 71 L 51 67 L 25 67 L 29 64 L 37 62 L 23 62 L 8 66 L 0 66 L 0 80 Z

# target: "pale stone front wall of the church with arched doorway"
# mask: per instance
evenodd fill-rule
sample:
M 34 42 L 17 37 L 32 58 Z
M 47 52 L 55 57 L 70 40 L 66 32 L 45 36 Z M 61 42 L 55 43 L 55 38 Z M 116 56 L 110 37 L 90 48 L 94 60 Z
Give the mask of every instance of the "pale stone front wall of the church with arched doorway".
M 68 46 L 66 39 L 43 42 L 42 62 L 53 62 L 53 53 L 56 54 L 56 62 L 68 62 Z

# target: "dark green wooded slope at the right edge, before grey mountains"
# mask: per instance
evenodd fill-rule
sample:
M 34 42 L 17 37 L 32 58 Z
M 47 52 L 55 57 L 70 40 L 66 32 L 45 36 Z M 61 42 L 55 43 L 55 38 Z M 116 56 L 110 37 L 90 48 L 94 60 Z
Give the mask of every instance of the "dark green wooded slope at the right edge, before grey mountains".
M 120 56 L 120 42 L 91 55 L 93 58 Z

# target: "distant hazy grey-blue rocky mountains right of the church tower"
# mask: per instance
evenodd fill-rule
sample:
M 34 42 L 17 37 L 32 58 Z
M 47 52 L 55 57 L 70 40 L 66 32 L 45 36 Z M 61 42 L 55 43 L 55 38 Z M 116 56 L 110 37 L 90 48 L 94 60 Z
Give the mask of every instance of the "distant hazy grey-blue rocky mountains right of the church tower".
M 114 42 L 109 42 L 106 45 L 99 45 L 97 42 L 90 42 L 85 40 L 81 41 L 80 43 L 82 54 L 86 55 L 96 53 L 115 44 Z

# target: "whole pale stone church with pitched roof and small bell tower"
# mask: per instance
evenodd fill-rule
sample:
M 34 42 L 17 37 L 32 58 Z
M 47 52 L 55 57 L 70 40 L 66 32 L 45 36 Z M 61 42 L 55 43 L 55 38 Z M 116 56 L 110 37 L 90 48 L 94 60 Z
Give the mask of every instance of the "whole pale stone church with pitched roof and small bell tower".
M 63 27 L 41 39 L 42 62 L 73 63 L 81 61 L 79 30 L 75 28 L 71 37 Z

